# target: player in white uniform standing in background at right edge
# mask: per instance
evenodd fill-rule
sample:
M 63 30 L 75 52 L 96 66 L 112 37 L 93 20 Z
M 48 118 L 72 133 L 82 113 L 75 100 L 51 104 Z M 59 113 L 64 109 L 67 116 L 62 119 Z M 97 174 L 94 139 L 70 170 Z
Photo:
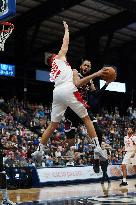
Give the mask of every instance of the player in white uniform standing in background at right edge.
M 132 128 L 128 128 L 127 136 L 124 137 L 124 145 L 126 154 L 122 161 L 122 173 L 123 173 L 123 180 L 120 186 L 127 186 L 127 169 L 126 166 L 131 164 L 134 167 L 136 173 L 136 135 L 134 135 Z

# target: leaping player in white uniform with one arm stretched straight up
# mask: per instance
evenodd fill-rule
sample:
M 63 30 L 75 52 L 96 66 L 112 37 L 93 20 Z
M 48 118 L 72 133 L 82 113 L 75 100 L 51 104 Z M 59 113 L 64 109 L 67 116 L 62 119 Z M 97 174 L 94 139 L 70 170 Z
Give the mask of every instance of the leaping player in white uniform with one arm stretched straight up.
M 101 76 L 106 73 L 106 69 L 102 69 L 92 75 L 83 79 L 77 79 L 77 71 L 73 71 L 67 62 L 66 53 L 69 45 L 69 29 L 66 22 L 63 22 L 65 33 L 63 43 L 59 53 L 52 54 L 48 58 L 48 64 L 52 67 L 50 73 L 50 80 L 55 83 L 53 90 L 53 103 L 51 112 L 51 123 L 44 131 L 38 151 L 43 152 L 45 145 L 47 145 L 49 137 L 55 129 L 57 129 L 67 107 L 70 107 L 85 123 L 89 137 L 94 139 L 96 145 L 95 152 L 104 157 L 102 149 L 100 148 L 98 138 L 90 120 L 86 106 L 87 104 L 82 99 L 77 87 L 88 83 L 91 79 Z

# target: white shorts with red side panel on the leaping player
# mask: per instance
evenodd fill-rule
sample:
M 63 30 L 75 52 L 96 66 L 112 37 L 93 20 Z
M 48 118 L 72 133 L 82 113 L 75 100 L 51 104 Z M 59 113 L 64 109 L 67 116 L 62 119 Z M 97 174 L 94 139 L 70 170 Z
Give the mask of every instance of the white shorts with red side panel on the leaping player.
M 82 101 L 82 99 L 80 99 Z M 63 86 L 54 90 L 51 121 L 60 122 L 67 107 L 70 107 L 80 118 L 88 115 L 83 102 L 79 101 L 72 88 Z

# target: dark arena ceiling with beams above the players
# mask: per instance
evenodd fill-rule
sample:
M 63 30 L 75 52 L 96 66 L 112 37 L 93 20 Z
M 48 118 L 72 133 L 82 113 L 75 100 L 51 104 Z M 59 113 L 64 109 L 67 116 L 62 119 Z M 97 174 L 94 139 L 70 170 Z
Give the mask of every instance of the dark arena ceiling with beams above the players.
M 136 0 L 17 0 L 16 10 L 15 31 L 5 55 L 15 56 L 17 63 L 42 64 L 45 52 L 58 51 L 63 20 L 70 28 L 73 61 L 88 53 L 105 61 L 124 46 L 132 48 L 136 57 Z

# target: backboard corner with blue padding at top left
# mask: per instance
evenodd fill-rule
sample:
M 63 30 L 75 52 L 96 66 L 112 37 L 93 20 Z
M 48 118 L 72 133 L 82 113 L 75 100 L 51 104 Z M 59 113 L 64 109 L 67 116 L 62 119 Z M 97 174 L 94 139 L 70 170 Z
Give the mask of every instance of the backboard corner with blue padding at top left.
M 16 14 L 16 0 L 0 0 L 0 21 L 6 21 Z

